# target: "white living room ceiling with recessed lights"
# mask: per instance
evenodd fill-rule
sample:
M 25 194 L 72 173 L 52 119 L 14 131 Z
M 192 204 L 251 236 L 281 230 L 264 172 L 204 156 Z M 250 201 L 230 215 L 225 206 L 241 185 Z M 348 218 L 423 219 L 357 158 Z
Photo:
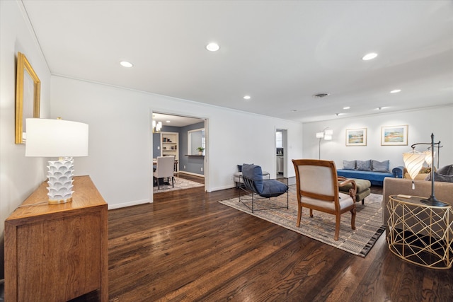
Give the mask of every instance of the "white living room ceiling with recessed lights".
M 23 6 L 55 75 L 299 122 L 453 103 L 453 1 Z

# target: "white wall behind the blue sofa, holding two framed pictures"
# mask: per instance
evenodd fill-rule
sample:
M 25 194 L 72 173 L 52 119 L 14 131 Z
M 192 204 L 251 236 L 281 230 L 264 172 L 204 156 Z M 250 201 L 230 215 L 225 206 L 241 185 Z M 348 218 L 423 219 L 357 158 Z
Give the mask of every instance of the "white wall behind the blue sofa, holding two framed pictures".
M 391 168 L 403 165 L 403 152 L 411 151 L 411 144 L 441 141 L 440 167 L 453 163 L 453 105 L 441 108 L 425 108 L 406 112 L 381 113 L 366 117 L 341 118 L 304 124 L 304 157 L 318 158 L 319 139 L 316 132 L 333 129 L 332 141 L 321 141 L 321 159 L 333 160 L 337 168 L 343 168 L 343 160 L 377 161 L 390 160 Z M 408 146 L 381 146 L 381 127 L 408 124 Z M 367 146 L 346 146 L 346 129 L 367 128 Z M 427 146 L 417 146 L 425 151 Z M 435 158 L 437 163 L 437 156 Z

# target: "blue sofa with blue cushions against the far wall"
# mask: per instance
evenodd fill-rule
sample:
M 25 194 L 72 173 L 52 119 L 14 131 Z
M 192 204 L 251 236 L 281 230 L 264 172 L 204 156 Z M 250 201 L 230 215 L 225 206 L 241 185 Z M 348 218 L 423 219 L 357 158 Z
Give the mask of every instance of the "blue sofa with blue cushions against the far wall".
M 374 169 L 370 165 L 371 170 L 362 170 L 361 167 L 357 164 L 357 166 L 352 167 L 351 165 L 352 162 L 355 161 L 343 161 L 343 167 L 347 169 L 337 169 L 337 174 L 338 176 L 343 176 L 345 178 L 358 178 L 362 180 L 369 180 L 372 185 L 379 185 L 382 187 L 384 184 L 384 178 L 403 178 L 403 166 L 398 166 L 395 167 L 389 171 L 389 169 Z M 362 162 L 362 161 L 357 161 L 357 162 Z M 365 161 L 363 161 L 365 162 Z M 371 162 L 371 161 L 370 161 Z M 377 161 L 372 161 L 372 163 L 375 163 Z M 379 163 L 379 162 L 377 162 Z M 387 161 L 388 164 L 388 161 Z

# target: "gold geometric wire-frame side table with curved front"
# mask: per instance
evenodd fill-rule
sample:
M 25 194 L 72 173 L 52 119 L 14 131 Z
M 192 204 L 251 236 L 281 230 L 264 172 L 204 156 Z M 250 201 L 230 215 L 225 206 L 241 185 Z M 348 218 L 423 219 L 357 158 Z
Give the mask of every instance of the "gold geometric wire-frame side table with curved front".
M 425 197 L 389 197 L 389 249 L 415 265 L 449 269 L 453 262 L 452 206 L 432 206 L 421 199 Z

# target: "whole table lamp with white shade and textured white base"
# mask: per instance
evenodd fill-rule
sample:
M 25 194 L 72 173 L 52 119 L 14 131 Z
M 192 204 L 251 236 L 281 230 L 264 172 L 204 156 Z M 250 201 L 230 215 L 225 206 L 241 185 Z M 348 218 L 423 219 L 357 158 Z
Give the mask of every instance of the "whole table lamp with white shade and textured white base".
M 25 156 L 58 157 L 47 166 L 50 204 L 72 201 L 74 156 L 88 156 L 88 124 L 66 120 L 26 119 Z

